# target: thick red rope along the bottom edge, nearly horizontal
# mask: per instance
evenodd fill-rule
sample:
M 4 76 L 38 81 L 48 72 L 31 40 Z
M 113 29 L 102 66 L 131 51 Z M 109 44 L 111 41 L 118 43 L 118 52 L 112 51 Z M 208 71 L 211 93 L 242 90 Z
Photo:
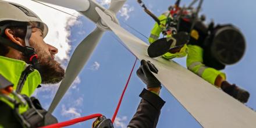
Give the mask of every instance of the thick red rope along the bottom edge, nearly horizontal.
M 93 115 L 89 115 L 89 116 L 84 116 L 82 118 L 76 118 L 76 119 L 72 119 L 72 120 L 68 120 L 65 122 L 61 122 L 61 123 L 55 123 L 53 125 L 48 125 L 48 126 L 44 126 L 44 127 L 40 127 L 40 128 L 56 128 L 56 127 L 65 127 L 65 126 L 70 126 L 70 125 L 74 125 L 76 123 L 79 122 L 83 122 L 89 119 L 93 119 L 93 118 L 98 118 L 101 117 L 102 115 L 97 113 L 97 114 L 93 114 Z

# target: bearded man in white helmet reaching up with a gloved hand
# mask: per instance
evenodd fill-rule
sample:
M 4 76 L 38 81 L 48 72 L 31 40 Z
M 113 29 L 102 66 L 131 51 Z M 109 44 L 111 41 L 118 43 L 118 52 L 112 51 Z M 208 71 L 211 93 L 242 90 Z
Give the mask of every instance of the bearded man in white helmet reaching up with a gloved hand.
M 44 42 L 48 27 L 30 9 L 0 0 L 0 127 L 41 127 L 58 120 L 31 97 L 40 84 L 59 83 L 65 76 L 55 61 L 58 49 Z M 158 95 L 158 70 L 141 61 L 138 76 L 147 84 L 129 127 L 156 127 L 165 104 Z M 145 123 L 147 122 L 147 123 Z M 113 126 L 112 122 L 110 122 Z M 103 126 L 98 123 L 97 127 Z

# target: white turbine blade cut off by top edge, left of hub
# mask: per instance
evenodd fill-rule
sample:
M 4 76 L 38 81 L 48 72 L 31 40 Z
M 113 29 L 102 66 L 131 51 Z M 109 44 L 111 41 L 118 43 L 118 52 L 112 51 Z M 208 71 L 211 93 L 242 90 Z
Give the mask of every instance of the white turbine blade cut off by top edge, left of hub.
M 66 8 L 74 9 L 77 11 L 86 11 L 89 6 L 90 2 L 89 0 L 35 0 L 45 3 L 51 3 L 58 6 L 63 6 Z

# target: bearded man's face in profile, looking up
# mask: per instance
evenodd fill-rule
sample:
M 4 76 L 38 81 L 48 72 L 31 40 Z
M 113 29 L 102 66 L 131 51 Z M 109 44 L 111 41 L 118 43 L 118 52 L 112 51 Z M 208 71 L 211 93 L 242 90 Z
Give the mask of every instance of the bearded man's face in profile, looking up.
M 42 31 L 34 28 L 30 37 L 30 46 L 35 49 L 40 63 L 38 71 L 41 74 L 42 84 L 55 84 L 59 83 L 64 76 L 65 70 L 61 64 L 55 61 L 55 54 L 58 49 L 44 42 Z

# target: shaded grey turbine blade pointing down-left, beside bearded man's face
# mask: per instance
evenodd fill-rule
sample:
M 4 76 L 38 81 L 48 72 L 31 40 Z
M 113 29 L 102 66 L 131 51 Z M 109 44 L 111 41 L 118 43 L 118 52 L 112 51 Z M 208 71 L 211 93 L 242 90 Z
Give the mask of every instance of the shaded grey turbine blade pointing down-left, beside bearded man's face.
M 98 27 L 89 34 L 74 50 L 73 55 L 70 58 L 69 64 L 67 65 L 65 79 L 62 80 L 61 85 L 54 97 L 54 100 L 49 107 L 49 112 L 53 112 L 56 106 L 61 101 L 63 95 L 66 93 L 67 89 L 71 86 L 74 79 L 83 69 L 90 55 L 93 53 L 94 48 L 97 46 L 99 40 L 102 37 L 104 31 L 98 29 Z

